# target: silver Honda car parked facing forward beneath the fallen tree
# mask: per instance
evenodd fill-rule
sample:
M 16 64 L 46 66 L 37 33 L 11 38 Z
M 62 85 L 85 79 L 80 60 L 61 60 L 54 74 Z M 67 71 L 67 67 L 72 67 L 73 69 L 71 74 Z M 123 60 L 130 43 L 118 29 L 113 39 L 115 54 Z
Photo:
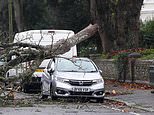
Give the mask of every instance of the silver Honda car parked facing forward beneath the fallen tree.
M 101 71 L 88 58 L 55 58 L 42 77 L 42 97 L 89 97 L 103 101 L 104 80 Z M 45 73 L 46 73 L 45 72 Z

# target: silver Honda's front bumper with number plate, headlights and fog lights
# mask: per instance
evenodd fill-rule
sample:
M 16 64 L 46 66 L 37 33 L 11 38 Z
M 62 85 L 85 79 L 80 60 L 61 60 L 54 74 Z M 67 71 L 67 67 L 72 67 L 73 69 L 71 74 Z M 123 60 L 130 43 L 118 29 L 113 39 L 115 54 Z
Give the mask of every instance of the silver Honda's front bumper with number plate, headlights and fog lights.
M 57 81 L 54 86 L 54 95 L 57 97 L 103 98 L 105 96 L 104 83 L 91 86 L 72 86 Z

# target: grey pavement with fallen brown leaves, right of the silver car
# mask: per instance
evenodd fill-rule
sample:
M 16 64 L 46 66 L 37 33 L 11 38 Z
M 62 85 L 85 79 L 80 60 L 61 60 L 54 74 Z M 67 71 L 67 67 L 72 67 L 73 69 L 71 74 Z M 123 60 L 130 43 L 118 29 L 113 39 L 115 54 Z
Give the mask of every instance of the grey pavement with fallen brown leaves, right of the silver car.
M 121 95 L 106 96 L 105 99 L 124 102 L 126 105 L 147 112 L 154 112 L 154 89 L 126 89 L 115 84 L 108 84 L 107 91 L 120 92 Z

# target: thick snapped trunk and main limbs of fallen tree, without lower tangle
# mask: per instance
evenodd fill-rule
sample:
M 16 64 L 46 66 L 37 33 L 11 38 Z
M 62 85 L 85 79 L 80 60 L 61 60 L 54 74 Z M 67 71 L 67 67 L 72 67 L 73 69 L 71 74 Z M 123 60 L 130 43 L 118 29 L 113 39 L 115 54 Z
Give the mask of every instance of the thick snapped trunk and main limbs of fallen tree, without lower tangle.
M 32 45 L 28 43 L 11 43 L 11 44 L 5 44 L 3 48 L 6 48 L 6 46 L 18 46 L 18 47 L 28 47 L 29 48 L 36 48 L 36 50 L 23 50 L 20 52 L 20 56 L 16 57 L 15 59 L 12 59 L 9 61 L 6 65 L 0 67 L 0 71 L 4 70 L 7 71 L 10 66 L 16 66 L 23 62 L 28 62 L 31 60 L 37 60 L 38 58 L 44 59 L 44 58 L 51 58 L 53 56 L 64 54 L 65 52 L 69 51 L 71 47 L 77 45 L 78 43 L 90 38 L 98 31 L 98 25 L 97 24 L 90 24 L 77 34 L 73 35 L 72 37 L 68 39 L 62 39 L 58 41 L 57 43 L 53 44 L 52 47 L 50 46 L 38 46 L 38 45 Z M 2 47 L 2 45 L 0 45 Z M 9 67 L 7 67 L 9 66 Z

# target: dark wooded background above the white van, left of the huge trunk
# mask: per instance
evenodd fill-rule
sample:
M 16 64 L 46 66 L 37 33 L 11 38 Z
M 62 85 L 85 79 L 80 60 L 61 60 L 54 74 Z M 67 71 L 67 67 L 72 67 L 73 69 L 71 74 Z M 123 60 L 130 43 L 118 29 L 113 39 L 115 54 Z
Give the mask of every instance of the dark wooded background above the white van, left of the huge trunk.
M 1 19 L 8 31 L 8 1 L 0 0 Z M 4 14 L 5 13 L 5 14 Z M 71 29 L 80 31 L 90 23 L 88 0 L 13 0 L 13 30 Z M 1 29 L 2 30 L 2 29 Z

